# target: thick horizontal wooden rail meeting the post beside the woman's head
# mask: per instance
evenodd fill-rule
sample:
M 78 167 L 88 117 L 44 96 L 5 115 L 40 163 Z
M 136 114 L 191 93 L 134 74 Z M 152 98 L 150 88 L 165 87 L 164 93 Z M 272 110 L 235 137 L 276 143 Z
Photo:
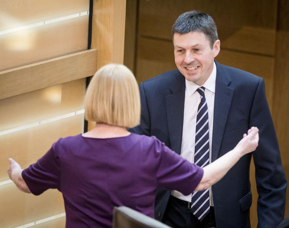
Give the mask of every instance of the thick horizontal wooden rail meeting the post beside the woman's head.
M 2 71 L 0 99 L 92 76 L 96 65 L 97 50 L 90 49 Z

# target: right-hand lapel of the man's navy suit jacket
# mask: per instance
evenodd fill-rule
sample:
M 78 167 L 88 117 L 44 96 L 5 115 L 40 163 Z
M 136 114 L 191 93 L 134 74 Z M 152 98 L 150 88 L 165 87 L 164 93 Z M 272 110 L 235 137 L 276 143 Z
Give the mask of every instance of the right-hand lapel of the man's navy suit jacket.
M 218 158 L 219 149 L 230 111 L 234 89 L 228 87 L 231 78 L 222 64 L 216 62 L 216 89 L 214 102 L 214 121 L 213 121 L 213 138 L 212 138 L 212 161 Z

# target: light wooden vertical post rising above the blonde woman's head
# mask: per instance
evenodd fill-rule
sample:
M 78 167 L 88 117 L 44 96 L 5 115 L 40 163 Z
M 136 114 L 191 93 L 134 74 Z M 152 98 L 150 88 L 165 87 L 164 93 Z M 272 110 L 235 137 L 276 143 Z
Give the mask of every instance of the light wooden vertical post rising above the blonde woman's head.
M 94 0 L 91 48 L 98 49 L 97 69 L 123 64 L 126 0 Z

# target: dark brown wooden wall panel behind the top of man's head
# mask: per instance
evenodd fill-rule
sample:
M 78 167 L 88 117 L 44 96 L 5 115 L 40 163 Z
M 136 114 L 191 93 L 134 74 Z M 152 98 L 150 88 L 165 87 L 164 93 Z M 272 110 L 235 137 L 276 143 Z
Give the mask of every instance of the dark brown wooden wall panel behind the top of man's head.
M 140 0 L 138 34 L 170 40 L 173 23 L 190 10 L 204 11 L 213 17 L 223 47 L 274 55 L 277 0 L 184 0 L 181 4 L 176 0 Z

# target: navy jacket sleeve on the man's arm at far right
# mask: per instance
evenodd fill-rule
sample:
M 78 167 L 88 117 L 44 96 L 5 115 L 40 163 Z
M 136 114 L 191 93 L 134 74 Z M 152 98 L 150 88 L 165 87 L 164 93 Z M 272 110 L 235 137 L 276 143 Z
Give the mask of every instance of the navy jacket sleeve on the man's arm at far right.
M 250 126 L 259 128 L 260 138 L 259 145 L 253 152 L 259 194 L 257 227 L 276 227 L 284 218 L 287 181 L 262 78 L 253 100 Z

